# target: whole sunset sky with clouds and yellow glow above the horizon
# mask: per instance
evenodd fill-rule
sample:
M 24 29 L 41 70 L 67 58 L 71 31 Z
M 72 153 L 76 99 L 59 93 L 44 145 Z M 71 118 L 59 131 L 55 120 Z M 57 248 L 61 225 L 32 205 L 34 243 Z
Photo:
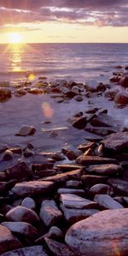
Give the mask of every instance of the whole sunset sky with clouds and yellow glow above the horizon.
M 127 15 L 128 0 L 0 0 L 0 44 L 128 43 Z

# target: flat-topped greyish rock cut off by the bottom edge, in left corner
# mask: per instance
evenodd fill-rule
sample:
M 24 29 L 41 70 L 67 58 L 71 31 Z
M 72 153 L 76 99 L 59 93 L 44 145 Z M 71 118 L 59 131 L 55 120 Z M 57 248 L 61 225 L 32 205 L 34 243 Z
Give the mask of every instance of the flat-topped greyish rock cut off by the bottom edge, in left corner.
M 33 247 L 24 247 L 9 253 L 3 253 L 1 256 L 49 256 L 48 253 L 45 252 L 43 246 L 33 246 Z

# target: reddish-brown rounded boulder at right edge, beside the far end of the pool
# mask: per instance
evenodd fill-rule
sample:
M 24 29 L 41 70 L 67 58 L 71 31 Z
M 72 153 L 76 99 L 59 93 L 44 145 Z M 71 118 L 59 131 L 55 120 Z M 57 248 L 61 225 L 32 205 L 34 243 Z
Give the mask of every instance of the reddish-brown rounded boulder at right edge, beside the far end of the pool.
M 119 92 L 114 96 L 114 102 L 117 105 L 125 106 L 128 104 L 128 92 Z

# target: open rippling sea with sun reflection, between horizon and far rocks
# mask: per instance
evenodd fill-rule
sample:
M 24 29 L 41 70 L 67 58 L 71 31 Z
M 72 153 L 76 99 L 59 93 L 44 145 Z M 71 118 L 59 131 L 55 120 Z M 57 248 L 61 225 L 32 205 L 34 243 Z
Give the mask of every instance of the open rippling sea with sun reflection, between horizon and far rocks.
M 127 64 L 128 44 L 0 44 L 0 81 L 25 79 L 28 73 L 107 81 L 116 66 Z

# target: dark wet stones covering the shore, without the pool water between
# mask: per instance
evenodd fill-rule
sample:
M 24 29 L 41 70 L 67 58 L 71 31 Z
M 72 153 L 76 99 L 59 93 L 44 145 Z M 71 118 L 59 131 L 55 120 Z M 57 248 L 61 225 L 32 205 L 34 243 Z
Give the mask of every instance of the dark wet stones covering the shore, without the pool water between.
M 45 93 L 59 106 L 73 98 L 79 104 L 102 96 L 127 108 L 127 69 L 113 73 L 108 84 L 49 84 L 40 78 L 38 84 L 12 89 L 3 83 L 0 101 Z M 16 159 L 0 172 L 1 255 L 128 255 L 128 127 L 115 124 L 108 109 L 98 106 L 75 113 L 70 124 L 84 131 L 86 143 L 76 150 L 42 152 L 41 162 L 28 164 L 35 154 L 32 143 L 0 144 L 1 163 Z M 25 125 L 15 136 L 36 132 Z

